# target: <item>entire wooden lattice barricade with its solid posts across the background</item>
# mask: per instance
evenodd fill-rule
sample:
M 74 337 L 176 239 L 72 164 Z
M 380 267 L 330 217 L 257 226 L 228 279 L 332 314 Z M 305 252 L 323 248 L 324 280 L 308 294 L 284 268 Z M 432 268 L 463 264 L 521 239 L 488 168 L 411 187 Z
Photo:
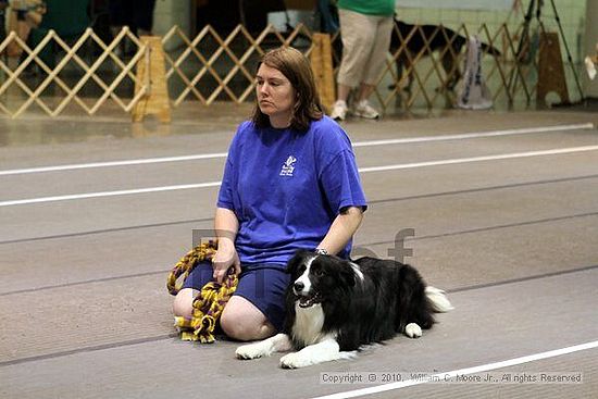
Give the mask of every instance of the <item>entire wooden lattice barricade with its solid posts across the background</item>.
M 514 40 L 520 30 L 512 34 L 503 24 L 497 32 L 490 32 L 484 24 L 477 32 L 488 48 L 501 48 L 501 52 L 494 54 L 488 51 L 484 60 L 488 65 L 485 75 L 493 100 L 513 104 L 523 99 L 530 104 L 536 96 L 540 103 L 548 92 L 557 92 L 563 102 L 570 101 L 558 35 L 543 35 L 539 57 L 527 49 L 531 57 L 522 58 L 521 46 L 518 48 Z M 381 111 L 395 108 L 398 98 L 404 109 L 422 104 L 432 109 L 443 100 L 441 107 L 446 107 L 454 99 L 449 86 L 459 76 L 463 57 L 458 40 L 469 36 L 465 25 L 451 30 L 438 26 L 425 35 L 422 26 L 415 25 L 410 33 L 401 34 L 399 46 L 386 60 L 375 84 L 373 97 L 379 102 Z M 171 108 L 186 100 L 199 100 L 204 105 L 214 101 L 240 104 L 253 99 L 252 71 L 259 57 L 277 46 L 294 46 L 309 54 L 322 104 L 329 111 L 336 91 L 334 40 L 340 40 L 338 34 L 331 38 L 312 33 L 301 24 L 284 35 L 267 25 L 257 36 L 239 25 L 225 37 L 208 25 L 194 38 L 173 26 L 162 39 L 144 37 L 142 41 L 124 27 L 110 43 L 104 43 L 92 29 L 87 29 L 74 45 L 51 30 L 35 48 L 29 48 L 12 32 L 0 41 L 0 53 L 14 45 L 23 57 L 21 60 L 0 57 L 0 116 L 18 117 L 37 107 L 54 117 L 71 104 L 94 115 L 111 101 L 117 109 L 130 113 L 134 122 L 150 114 L 169 122 Z M 433 40 L 439 40 L 441 46 L 433 45 Z M 506 46 L 500 46 L 500 40 L 507 41 Z M 415 50 L 408 46 L 411 41 Z M 125 42 L 133 42 L 137 48 L 133 58 L 121 57 L 117 51 Z M 47 65 L 41 57 L 48 47 L 55 52 L 54 66 Z M 180 51 L 169 54 L 163 47 L 176 47 Z M 89 57 L 89 50 L 95 54 Z M 30 68 L 37 75 L 29 75 Z M 409 75 L 412 90 L 401 90 L 401 71 Z M 130 83 L 135 92 L 129 99 Z M 98 96 L 96 101 L 94 96 Z

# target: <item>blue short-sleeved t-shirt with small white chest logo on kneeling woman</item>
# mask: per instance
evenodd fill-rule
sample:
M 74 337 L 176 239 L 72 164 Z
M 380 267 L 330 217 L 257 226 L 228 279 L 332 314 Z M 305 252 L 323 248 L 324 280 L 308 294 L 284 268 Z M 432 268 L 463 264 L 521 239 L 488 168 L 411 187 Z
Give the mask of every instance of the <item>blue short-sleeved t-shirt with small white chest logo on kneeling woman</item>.
M 323 116 L 306 133 L 240 124 L 217 207 L 239 221 L 241 263 L 284 265 L 298 249 L 315 248 L 341 209 L 366 201 L 349 137 Z M 350 250 L 351 242 L 339 255 Z

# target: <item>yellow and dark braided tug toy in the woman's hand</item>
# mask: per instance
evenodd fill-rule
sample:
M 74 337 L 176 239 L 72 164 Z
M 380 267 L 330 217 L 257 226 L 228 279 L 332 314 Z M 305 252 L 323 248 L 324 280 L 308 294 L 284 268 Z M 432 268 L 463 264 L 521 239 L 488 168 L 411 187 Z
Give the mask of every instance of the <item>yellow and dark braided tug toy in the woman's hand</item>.
M 176 295 L 183 287 L 183 282 L 194 267 L 202 261 L 211 260 L 217 250 L 216 241 L 200 244 L 183 257 L 169 274 L 166 288 L 171 295 Z M 180 334 L 180 339 L 190 341 L 200 341 L 201 344 L 212 344 L 215 341 L 214 328 L 216 322 L 226 306 L 226 302 L 237 289 L 237 275 L 232 273 L 233 269 L 226 275 L 223 284 L 211 282 L 201 288 L 200 294 L 194 300 L 194 313 L 191 320 L 182 316 L 174 317 L 174 326 Z M 177 283 L 179 280 L 180 283 Z

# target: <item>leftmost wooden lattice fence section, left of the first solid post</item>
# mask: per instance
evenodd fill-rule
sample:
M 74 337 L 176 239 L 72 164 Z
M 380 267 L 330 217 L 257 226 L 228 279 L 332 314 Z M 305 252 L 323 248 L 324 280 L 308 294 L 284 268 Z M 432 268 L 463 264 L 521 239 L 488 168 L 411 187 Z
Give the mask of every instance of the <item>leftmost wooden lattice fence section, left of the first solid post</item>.
M 123 61 L 116 54 L 116 49 L 124 40 L 129 40 L 136 48 L 134 55 L 127 61 Z M 137 82 L 135 75 L 135 65 L 145 60 L 147 49 L 126 27 L 109 45 L 105 45 L 92 29 L 87 29 L 72 43 L 65 42 L 55 32 L 50 30 L 33 49 L 11 32 L 0 43 L 0 53 L 11 42 L 18 46 L 23 52 L 20 60 L 0 59 L 0 73 L 4 75 L 0 79 L 0 110 L 11 117 L 22 115 L 33 104 L 38 105 L 46 114 L 57 116 L 71 103 L 79 105 L 88 115 L 94 115 L 109 99 L 124 112 L 129 112 L 149 89 L 148 83 Z M 48 51 L 48 47 L 51 47 L 51 57 L 60 57 L 53 67 L 40 55 L 42 51 Z M 98 54 L 91 60 L 86 60 L 82 53 L 90 48 L 96 49 Z M 11 65 L 10 61 L 18 62 Z M 109 74 L 104 71 L 107 64 L 111 70 L 110 80 L 107 80 Z M 79 76 L 76 82 L 66 83 L 62 75 L 73 68 L 79 71 Z M 32 78 L 32 70 L 35 70 L 37 78 Z M 116 89 L 125 80 L 141 87 L 136 96 L 126 98 L 117 95 Z M 83 98 L 82 90 L 91 83 L 98 88 L 95 90 L 98 93 L 97 98 Z M 49 89 L 52 89 L 50 96 L 47 95 Z

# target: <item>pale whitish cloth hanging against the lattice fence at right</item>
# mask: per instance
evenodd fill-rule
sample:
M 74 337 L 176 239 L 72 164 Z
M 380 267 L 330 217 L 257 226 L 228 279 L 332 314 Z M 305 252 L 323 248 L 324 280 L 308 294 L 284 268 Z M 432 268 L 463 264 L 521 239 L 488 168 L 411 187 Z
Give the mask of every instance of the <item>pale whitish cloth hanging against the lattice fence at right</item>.
M 482 43 L 475 36 L 468 40 L 465 73 L 458 89 L 457 107 L 484 110 L 493 107 L 493 97 L 482 74 Z

